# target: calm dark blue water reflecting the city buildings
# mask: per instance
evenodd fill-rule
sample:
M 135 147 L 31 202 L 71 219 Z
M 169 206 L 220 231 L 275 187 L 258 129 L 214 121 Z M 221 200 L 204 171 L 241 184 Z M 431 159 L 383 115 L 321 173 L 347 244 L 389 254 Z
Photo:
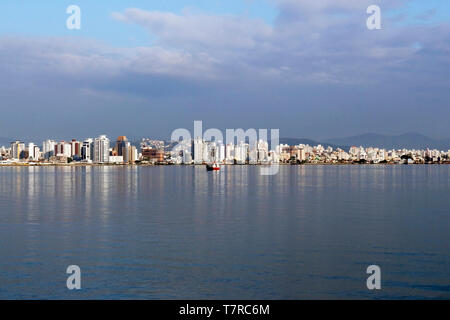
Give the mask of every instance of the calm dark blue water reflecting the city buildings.
M 449 299 L 449 171 L 0 167 L 0 298 Z

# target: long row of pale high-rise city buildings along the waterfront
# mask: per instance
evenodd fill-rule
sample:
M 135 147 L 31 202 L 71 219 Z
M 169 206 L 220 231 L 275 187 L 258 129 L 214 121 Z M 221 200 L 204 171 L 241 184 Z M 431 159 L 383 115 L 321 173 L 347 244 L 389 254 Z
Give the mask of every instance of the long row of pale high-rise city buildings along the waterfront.
M 197 127 L 198 129 L 198 127 Z M 126 136 L 119 136 L 111 146 L 106 135 L 83 141 L 72 139 L 46 140 L 39 145 L 13 141 L 10 148 L 0 147 L 2 165 L 60 165 L 60 164 L 224 164 L 224 165 L 275 165 L 278 164 L 449 164 L 450 149 L 385 149 L 376 146 L 331 146 L 268 142 L 267 137 L 252 133 L 237 133 L 225 140 L 214 134 L 175 140 L 169 145 L 164 141 L 142 139 L 138 147 Z M 220 134 L 221 135 L 221 134 Z M 231 140 L 229 140 L 231 139 Z M 248 139 L 248 141 L 247 141 Z

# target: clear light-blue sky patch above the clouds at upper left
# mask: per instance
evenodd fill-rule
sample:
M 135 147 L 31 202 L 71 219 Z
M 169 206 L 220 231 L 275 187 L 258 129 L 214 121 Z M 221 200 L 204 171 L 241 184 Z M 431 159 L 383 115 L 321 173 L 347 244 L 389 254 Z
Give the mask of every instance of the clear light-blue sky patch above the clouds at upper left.
M 78 5 L 82 11 L 80 31 L 67 30 L 66 8 Z M 273 23 L 277 10 L 270 0 L 78 0 L 30 1 L 3 0 L 0 4 L 0 32 L 37 36 L 84 36 L 105 41 L 115 46 L 146 45 L 152 37 L 135 25 L 124 25 L 111 17 L 113 12 L 126 8 L 182 13 L 185 10 L 211 14 L 246 15 Z

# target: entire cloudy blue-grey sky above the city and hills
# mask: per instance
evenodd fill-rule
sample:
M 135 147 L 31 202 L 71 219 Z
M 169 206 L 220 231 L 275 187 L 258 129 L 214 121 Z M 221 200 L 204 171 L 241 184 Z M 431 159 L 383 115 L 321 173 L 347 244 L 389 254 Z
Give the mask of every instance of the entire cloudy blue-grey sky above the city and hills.
M 449 22 L 446 0 L 2 0 L 0 137 L 449 138 Z

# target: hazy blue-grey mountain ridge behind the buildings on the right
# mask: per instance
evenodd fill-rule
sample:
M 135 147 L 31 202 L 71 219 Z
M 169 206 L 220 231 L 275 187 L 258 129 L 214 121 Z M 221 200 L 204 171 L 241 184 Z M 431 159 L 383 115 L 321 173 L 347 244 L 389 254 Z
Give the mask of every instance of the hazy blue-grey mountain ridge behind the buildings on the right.
M 326 139 L 326 141 L 328 143 L 338 145 L 380 147 L 385 149 L 450 149 L 450 139 L 433 139 L 416 132 L 405 133 L 397 136 L 366 133 L 345 138 Z

